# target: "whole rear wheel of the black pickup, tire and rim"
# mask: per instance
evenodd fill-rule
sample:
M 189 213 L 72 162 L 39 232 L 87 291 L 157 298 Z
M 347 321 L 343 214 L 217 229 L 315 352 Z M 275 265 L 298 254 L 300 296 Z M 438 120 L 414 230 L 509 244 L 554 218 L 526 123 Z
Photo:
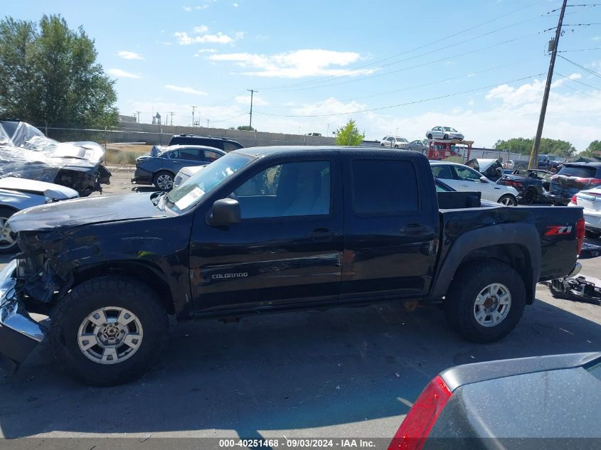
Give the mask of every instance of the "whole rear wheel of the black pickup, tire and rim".
M 526 286 L 511 266 L 477 261 L 457 270 L 445 298 L 450 326 L 467 341 L 487 343 L 507 336 L 526 305 Z

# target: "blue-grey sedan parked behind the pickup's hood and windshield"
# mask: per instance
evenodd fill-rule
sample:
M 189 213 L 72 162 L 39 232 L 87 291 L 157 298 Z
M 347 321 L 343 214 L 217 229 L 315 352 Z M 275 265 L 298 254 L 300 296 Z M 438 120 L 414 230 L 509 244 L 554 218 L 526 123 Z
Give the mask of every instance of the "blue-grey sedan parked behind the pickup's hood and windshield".
M 225 151 L 201 145 L 153 146 L 136 159 L 133 184 L 154 184 L 161 191 L 174 186 L 176 173 L 188 166 L 206 166 L 225 155 Z

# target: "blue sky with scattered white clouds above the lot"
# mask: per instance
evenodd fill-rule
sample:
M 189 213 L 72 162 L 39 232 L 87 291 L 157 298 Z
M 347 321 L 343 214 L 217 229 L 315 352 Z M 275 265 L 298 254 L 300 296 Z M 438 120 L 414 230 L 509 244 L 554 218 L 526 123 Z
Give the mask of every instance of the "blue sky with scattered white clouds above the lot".
M 10 2 L 3 13 L 61 14 L 71 28 L 83 26 L 117 80 L 120 111 L 140 111 L 142 122 L 174 112 L 174 124 L 189 125 L 196 105 L 201 126 L 207 119 L 211 127 L 248 124 L 247 90 L 255 89 L 252 124 L 260 131 L 331 134 L 352 118 L 368 139 L 390 132 L 421 139 L 426 129 L 449 125 L 492 146 L 536 132 L 549 28 L 558 20 L 551 11 L 560 6 L 54 0 Z M 579 51 L 560 55 L 592 73 L 558 58 L 543 136 L 582 150 L 601 139 L 601 6 L 567 13 L 559 50 Z

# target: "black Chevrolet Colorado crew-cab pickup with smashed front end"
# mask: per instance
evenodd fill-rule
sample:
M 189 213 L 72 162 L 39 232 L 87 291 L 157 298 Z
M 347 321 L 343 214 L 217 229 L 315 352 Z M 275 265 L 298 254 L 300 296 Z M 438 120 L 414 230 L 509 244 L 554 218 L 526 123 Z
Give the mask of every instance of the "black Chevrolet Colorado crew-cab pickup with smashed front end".
M 170 193 L 24 210 L 9 222 L 21 253 L 0 274 L 0 353 L 16 368 L 48 338 L 68 373 L 112 385 L 149 368 L 169 315 L 376 301 L 438 303 L 464 338 L 495 341 L 537 282 L 575 269 L 582 210 L 437 190 L 413 151 L 255 147 Z

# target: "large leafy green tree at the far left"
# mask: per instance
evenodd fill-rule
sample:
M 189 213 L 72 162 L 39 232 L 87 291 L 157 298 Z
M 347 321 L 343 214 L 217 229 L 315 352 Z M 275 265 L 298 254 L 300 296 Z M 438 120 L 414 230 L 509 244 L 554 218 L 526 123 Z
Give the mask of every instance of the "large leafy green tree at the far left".
M 115 81 L 96 62 L 94 41 L 61 16 L 0 21 L 0 115 L 32 124 L 117 124 Z

